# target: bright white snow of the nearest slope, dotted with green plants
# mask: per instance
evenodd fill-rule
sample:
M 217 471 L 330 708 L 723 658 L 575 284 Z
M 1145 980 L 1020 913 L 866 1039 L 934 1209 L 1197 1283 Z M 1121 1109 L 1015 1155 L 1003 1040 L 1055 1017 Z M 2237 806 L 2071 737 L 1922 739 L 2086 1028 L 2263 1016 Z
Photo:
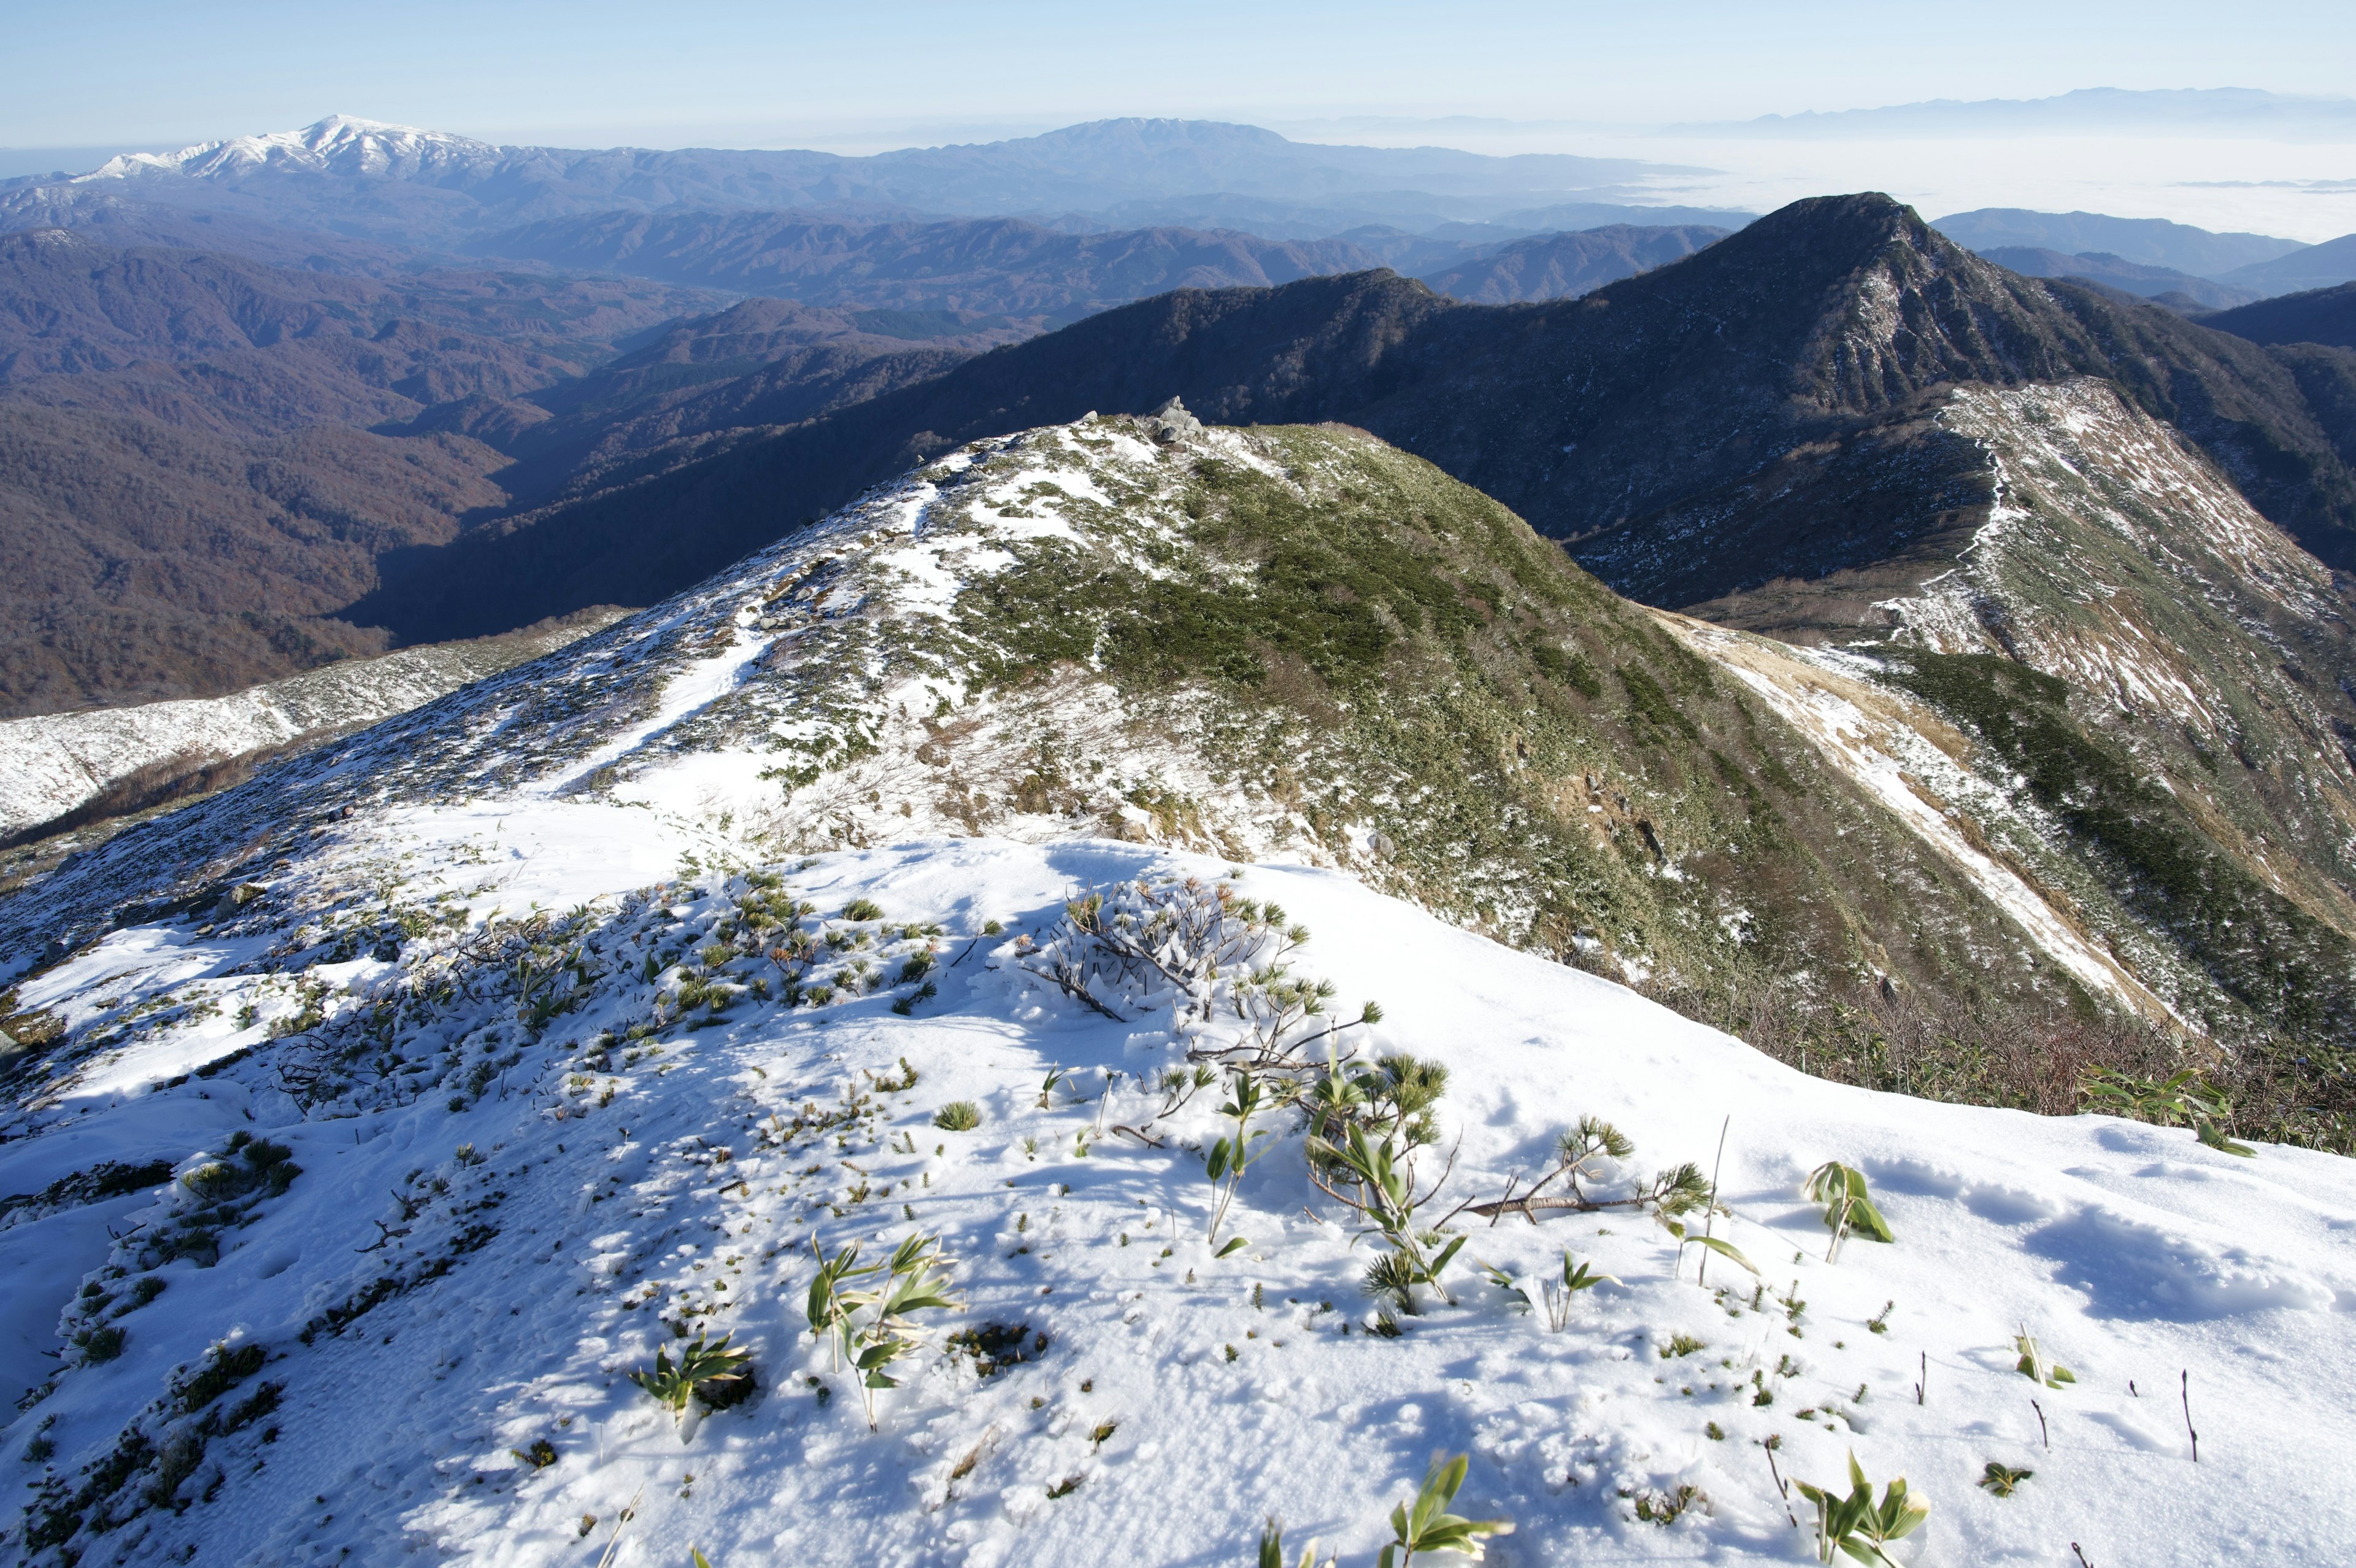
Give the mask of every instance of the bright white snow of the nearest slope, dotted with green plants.
M 1449 1068 L 1442 1144 L 1421 1160 L 1437 1174 L 1461 1139 L 1451 1203 L 1527 1181 L 1579 1115 L 1637 1146 L 1604 1195 L 1687 1158 L 1708 1167 L 1729 1122 L 1720 1233 L 1769 1290 L 1722 1259 L 1699 1285 L 1696 1254 L 1680 1269 L 1668 1233 L 1628 1210 L 1458 1221 L 1456 1306 L 1423 1292 L 1392 1339 L 1364 1332 L 1369 1243 L 1352 1250 L 1305 1181 L 1296 1115 L 1265 1120 L 1277 1139 L 1230 1217 L 1249 1245 L 1223 1259 L 1206 1245 L 1211 1184 L 1187 1144 L 1223 1129 L 1213 1094 L 1157 1120 L 1164 1096 L 1145 1085 L 1232 1019 L 1185 1028 L 1162 988 L 1112 1021 L 1025 971 L 1020 938 L 1046 936 L 1081 889 L 1216 879 L 1218 863 L 966 839 L 825 856 L 770 889 L 714 872 L 646 894 L 624 889 L 693 844 L 631 818 L 540 804 L 401 828 L 452 896 L 577 910 L 542 946 L 577 955 L 561 983 L 582 995 L 537 1037 L 507 953 L 448 957 L 445 997 L 419 1009 L 434 1021 L 344 1068 L 297 1037 L 221 1056 L 240 997 L 285 1007 L 264 976 L 231 979 L 259 938 L 123 931 L 31 988 L 186 995 L 217 976 L 198 986 L 212 1019 L 92 1070 L 5 1148 L 9 1188 L 184 1153 L 179 1184 L 111 1205 L 108 1269 L 87 1219 L 0 1231 L 14 1280 L 80 1247 L 75 1271 L 92 1266 L 111 1304 L 73 1320 L 123 1327 L 111 1361 L 64 1370 L 7 1431 L 24 1481 L 45 1474 L 28 1448 L 54 1450 L 57 1493 L 144 1434 L 132 1474 L 80 1509 L 118 1521 L 85 1523 L 85 1561 L 594 1561 L 624 1509 L 624 1563 L 686 1561 L 690 1542 L 723 1566 L 1218 1563 L 1242 1561 L 1270 1511 L 1352 1561 L 1435 1450 L 1472 1455 L 1468 1511 L 1517 1523 L 1498 1561 L 1805 1561 L 1758 1445 L 1776 1434 L 1786 1476 L 1833 1481 L 1847 1450 L 1875 1478 L 1904 1471 L 1932 1521 L 1901 1556 L 1927 1563 L 2066 1561 L 2071 1540 L 2094 1563 L 2316 1563 L 2356 1542 L 2344 1160 L 2241 1160 L 2189 1132 L 1824 1085 L 1336 872 L 1249 868 L 1237 894 L 1310 927 L 1296 971 L 1331 981 L 1345 1019 L 1385 1007 L 1343 1040 Z M 898 1014 L 914 983 L 796 1009 L 737 993 L 686 1030 L 657 1000 L 676 976 L 641 979 L 641 953 L 697 962 L 714 922 L 796 898 L 827 913 L 872 898 L 888 924 L 803 924 L 869 934 L 843 953 L 876 955 L 886 981 L 902 953 L 938 948 L 935 995 Z M 985 920 L 1006 934 L 980 936 Z M 907 922 L 940 931 L 893 941 Z M 714 969 L 777 974 L 761 957 Z M 365 993 L 386 971 L 353 957 L 309 979 Z M 634 1045 L 591 1045 L 664 1016 Z M 229 1066 L 184 1078 L 207 1059 Z M 1065 1080 L 1044 1089 L 1055 1068 Z M 332 1099 L 304 1115 L 287 1082 Z M 978 1129 L 931 1125 L 957 1099 L 980 1108 Z M 146 1269 L 198 1207 L 186 1172 L 236 1165 L 240 1134 L 280 1144 L 302 1174 L 221 1224 L 217 1264 Z M 1852 1240 L 1821 1261 L 1826 1231 L 1798 1188 L 1828 1158 L 1868 1172 L 1894 1245 Z M 1020 1325 L 1046 1346 L 987 1379 L 924 1351 L 869 1431 L 803 1325 L 810 1245 L 874 1257 L 912 1231 L 940 1236 L 966 1302 L 942 1327 Z M 1623 1280 L 1581 1297 L 1562 1332 L 1468 1266 L 1477 1254 L 1536 1294 L 1562 1247 Z M 139 1280 L 165 1290 L 132 1304 Z M 667 1320 L 733 1330 L 759 1396 L 683 1436 L 624 1382 L 676 1346 Z M 2024 1325 L 2073 1386 L 2014 1370 Z M 207 1346 L 229 1372 L 174 1401 Z M 184 1434 L 207 1417 L 191 1452 Z M 535 1443 L 554 1462 L 535 1467 Z M 1991 1460 L 2036 1474 L 1993 1497 L 1974 1488 Z M 1699 1495 L 1673 1523 L 1637 1518 L 1685 1485 Z M 26 1530 L 42 1518 L 61 1528 L 35 1511 L 9 1535 L 35 1561 L 49 1556 L 26 1551 Z

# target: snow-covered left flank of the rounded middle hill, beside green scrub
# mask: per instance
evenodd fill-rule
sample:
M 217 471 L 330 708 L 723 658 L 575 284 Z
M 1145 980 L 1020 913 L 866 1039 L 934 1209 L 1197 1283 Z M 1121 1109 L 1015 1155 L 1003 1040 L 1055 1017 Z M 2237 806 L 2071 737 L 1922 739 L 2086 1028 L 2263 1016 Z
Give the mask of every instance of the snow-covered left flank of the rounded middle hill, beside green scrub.
M 1265 467 L 1235 431 L 1202 431 L 1192 450 Z M 1220 785 L 1199 747 L 1140 731 L 1086 672 L 973 691 L 990 648 L 949 615 L 957 592 L 1023 547 L 1086 533 L 1124 549 L 1166 528 L 1169 462 L 1126 420 L 975 443 L 662 606 L 92 851 L 42 898 L 0 905 L 0 941 L 24 962 L 123 898 L 226 875 L 262 839 L 485 797 L 660 802 L 737 844 L 825 849 L 982 828 L 1032 839 L 1136 823 L 1126 832 L 1147 837 L 1131 797 L 1185 795 L 1206 809 L 1150 837 L 1317 856 L 1293 806 Z M 1020 788 L 1041 733 L 1074 759 L 1053 804 Z

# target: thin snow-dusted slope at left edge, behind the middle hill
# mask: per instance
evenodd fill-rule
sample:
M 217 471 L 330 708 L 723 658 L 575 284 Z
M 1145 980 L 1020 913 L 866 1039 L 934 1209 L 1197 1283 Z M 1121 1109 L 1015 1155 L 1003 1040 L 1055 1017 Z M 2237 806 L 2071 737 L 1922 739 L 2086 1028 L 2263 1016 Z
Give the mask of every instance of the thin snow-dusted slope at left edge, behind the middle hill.
M 141 703 L 0 724 L 0 839 L 75 811 L 134 773 L 186 773 L 247 752 L 375 724 L 594 632 L 403 648 L 250 686 L 226 698 Z

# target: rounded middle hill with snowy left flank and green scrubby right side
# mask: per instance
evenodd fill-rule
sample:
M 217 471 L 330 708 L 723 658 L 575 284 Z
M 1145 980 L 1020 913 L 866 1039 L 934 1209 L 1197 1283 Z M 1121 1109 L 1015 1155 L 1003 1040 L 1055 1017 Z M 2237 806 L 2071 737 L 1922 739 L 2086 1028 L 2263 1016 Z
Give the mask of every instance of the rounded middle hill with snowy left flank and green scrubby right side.
M 1350 865 L 1626 974 L 1776 941 L 1791 967 L 1946 986 L 1970 953 L 1970 988 L 2059 1004 L 2066 969 L 1939 846 L 1491 500 L 1362 434 L 1185 427 L 1091 417 L 954 453 L 82 856 L 0 905 L 0 948 L 61 955 L 158 898 L 212 903 L 344 813 L 643 802 L 664 769 L 693 783 L 671 809 L 744 856 L 1103 832 Z

